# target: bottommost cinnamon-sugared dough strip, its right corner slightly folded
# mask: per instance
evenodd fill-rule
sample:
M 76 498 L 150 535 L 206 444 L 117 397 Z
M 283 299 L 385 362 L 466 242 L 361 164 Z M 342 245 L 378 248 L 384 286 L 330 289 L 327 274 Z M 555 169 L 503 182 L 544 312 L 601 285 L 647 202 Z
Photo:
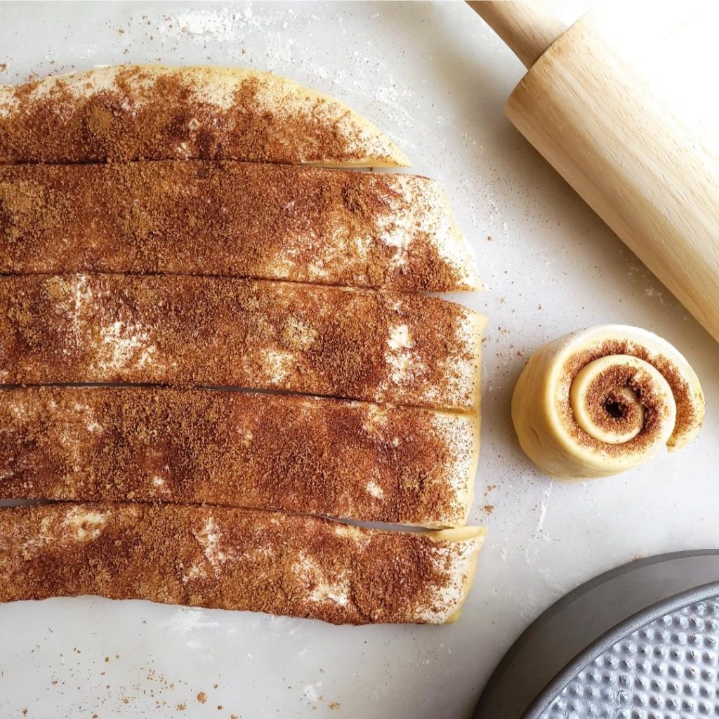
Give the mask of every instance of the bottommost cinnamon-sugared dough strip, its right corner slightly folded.
M 485 531 L 185 505 L 0 508 L 0 602 L 101 595 L 334 624 L 459 615 Z

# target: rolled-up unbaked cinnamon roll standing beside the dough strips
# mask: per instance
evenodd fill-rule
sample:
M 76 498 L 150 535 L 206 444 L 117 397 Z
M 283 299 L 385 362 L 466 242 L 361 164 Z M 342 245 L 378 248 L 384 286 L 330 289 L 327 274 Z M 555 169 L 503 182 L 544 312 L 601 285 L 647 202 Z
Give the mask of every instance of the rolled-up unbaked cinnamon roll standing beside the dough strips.
M 529 358 L 512 398 L 528 457 L 561 479 L 605 477 L 679 449 L 704 418 L 689 362 L 644 329 L 602 325 L 568 334 Z

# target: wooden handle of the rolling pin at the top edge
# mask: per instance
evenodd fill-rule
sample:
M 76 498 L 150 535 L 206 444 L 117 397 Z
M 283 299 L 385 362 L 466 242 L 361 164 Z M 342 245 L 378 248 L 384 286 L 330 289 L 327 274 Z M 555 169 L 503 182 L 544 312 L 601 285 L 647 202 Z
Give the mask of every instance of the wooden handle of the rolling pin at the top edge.
M 529 69 L 567 29 L 539 2 L 527 0 L 467 0 L 474 10 Z

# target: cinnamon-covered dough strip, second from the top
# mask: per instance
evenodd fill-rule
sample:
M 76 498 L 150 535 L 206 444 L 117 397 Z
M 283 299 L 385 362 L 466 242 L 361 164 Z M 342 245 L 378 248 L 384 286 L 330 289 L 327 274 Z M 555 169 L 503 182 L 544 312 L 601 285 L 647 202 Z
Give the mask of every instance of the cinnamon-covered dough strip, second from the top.
M 0 166 L 0 272 L 477 288 L 433 180 L 200 160 Z

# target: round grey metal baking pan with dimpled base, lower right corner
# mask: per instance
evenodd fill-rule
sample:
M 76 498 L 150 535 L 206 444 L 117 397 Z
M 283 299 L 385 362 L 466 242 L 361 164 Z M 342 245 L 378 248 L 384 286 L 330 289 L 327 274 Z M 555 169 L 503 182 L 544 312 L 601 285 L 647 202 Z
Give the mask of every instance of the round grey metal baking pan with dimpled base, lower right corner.
M 600 574 L 539 616 L 487 682 L 474 719 L 719 715 L 719 550 Z

